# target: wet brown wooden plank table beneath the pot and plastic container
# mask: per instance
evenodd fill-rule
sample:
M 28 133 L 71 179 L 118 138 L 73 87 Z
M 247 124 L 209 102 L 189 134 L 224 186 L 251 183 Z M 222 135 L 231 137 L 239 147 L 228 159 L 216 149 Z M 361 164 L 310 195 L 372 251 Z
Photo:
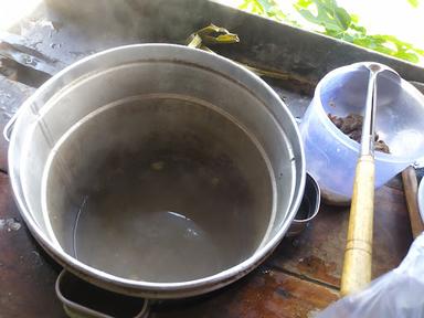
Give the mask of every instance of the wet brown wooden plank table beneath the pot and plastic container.
M 44 40 L 39 43 L 42 47 L 51 46 L 59 36 L 55 33 L 52 40 L 44 24 L 28 30 L 26 35 L 32 41 Z M 61 55 L 60 50 L 55 52 L 55 56 L 65 57 L 54 62 L 50 71 L 54 73 L 54 67 L 60 70 L 73 59 L 81 57 L 76 53 L 71 56 L 68 52 L 68 49 L 67 55 Z M 89 50 L 81 55 L 86 53 Z M 36 86 L 45 80 L 43 76 L 49 77 L 45 72 L 32 82 L 25 82 L 28 77 L 23 75 L 9 77 Z M 272 84 L 294 114 L 301 115 L 310 96 Z M 0 76 L 0 129 L 33 91 L 33 87 Z M 373 277 L 396 267 L 412 242 L 403 190 L 396 180 L 377 191 Z M 317 219 L 301 235 L 285 239 L 274 254 L 246 277 L 202 297 L 166 301 L 153 308 L 151 317 L 308 317 L 338 299 L 348 214 L 348 208 L 324 204 Z M 7 142 L 1 139 L 0 318 L 65 317 L 54 294 L 60 269 L 34 242 L 19 215 L 9 184 Z

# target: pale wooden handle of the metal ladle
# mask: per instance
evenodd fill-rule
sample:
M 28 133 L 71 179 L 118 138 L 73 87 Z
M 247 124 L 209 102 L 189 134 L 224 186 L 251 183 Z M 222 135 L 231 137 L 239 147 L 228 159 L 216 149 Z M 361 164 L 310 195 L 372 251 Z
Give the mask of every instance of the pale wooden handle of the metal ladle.
M 361 156 L 357 165 L 350 206 L 341 275 L 342 296 L 361 289 L 371 280 L 373 214 L 374 159 L 371 156 Z

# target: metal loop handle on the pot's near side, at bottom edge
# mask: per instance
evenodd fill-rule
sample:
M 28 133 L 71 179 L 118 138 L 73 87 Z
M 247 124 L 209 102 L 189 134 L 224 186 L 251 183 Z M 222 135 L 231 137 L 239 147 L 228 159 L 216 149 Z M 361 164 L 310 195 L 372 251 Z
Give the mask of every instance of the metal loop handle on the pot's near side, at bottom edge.
M 88 308 L 65 296 L 66 293 L 64 293 L 63 289 L 64 289 L 64 285 L 66 285 L 66 280 L 68 280 L 70 278 L 76 278 L 71 276 L 73 276 L 71 273 L 68 273 L 66 269 L 63 269 L 61 274 L 59 274 L 56 278 L 56 285 L 55 285 L 57 298 L 63 303 L 63 309 L 65 310 L 68 317 L 71 318 L 114 318 L 113 316 L 100 312 L 96 309 Z M 88 283 L 84 282 L 84 284 L 88 284 Z M 147 318 L 149 316 L 149 311 L 150 311 L 149 301 L 148 299 L 144 299 L 144 304 L 140 311 L 136 316 L 134 316 L 134 318 Z

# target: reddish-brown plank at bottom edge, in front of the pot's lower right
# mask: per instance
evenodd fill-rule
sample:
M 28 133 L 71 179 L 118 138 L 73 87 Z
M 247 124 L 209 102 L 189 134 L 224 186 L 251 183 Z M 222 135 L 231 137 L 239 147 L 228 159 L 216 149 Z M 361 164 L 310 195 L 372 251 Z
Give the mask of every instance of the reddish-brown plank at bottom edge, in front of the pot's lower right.
M 259 268 L 210 295 L 167 301 L 152 317 L 298 318 L 309 317 L 338 299 L 338 293 L 278 271 Z

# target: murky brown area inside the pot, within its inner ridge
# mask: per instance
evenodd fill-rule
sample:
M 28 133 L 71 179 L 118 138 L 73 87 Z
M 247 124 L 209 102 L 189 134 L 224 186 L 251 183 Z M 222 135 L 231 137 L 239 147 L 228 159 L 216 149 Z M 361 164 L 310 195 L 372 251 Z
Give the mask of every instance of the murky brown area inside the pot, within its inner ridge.
M 142 105 L 104 112 L 63 144 L 47 191 L 56 193 L 47 204 L 59 243 L 92 267 L 157 283 L 206 277 L 248 258 L 273 202 L 255 142 L 208 107 Z M 54 186 L 66 182 L 66 191 Z

